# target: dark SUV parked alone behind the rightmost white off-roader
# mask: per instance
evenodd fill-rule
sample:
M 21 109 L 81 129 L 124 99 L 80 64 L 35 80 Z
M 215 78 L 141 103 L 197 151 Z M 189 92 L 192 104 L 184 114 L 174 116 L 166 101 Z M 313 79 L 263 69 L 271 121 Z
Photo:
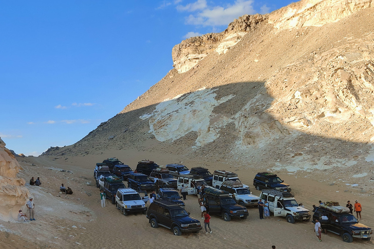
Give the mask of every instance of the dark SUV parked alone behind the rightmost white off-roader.
M 276 189 L 279 191 L 291 192 L 290 185 L 284 183 L 276 174 L 269 172 L 257 173 L 256 177 L 253 179 L 253 186 L 255 186 L 257 190 Z

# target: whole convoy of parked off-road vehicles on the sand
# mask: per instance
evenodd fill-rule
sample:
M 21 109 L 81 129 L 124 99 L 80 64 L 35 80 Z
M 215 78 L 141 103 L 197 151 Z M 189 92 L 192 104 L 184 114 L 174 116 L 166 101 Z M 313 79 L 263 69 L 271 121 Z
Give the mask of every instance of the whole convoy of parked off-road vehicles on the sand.
M 260 196 L 253 195 L 249 186 L 243 184 L 233 172 L 215 170 L 211 174 L 206 168 L 193 167 L 189 170 L 178 163 L 163 167 L 153 161 L 142 160 L 132 171 L 129 165 L 109 158 L 96 163 L 93 176 L 96 187 L 103 190 L 125 216 L 137 212 L 147 214 L 152 228 L 162 226 L 174 235 L 202 230 L 201 222 L 185 210 L 186 204 L 179 193 L 182 189 L 187 195 L 199 195 L 207 212 L 225 221 L 247 219 L 247 208 L 252 212 L 253 207 L 258 207 L 264 201 L 267 201 L 272 215 L 285 217 L 289 223 L 309 222 L 312 217 L 310 211 L 299 205 L 290 193 L 290 185 L 269 172 L 259 172 L 253 180 L 255 188 L 262 191 Z M 127 188 L 123 181 L 127 181 Z M 157 194 L 148 196 L 148 191 Z M 151 203 L 147 208 L 149 200 Z M 373 236 L 371 228 L 358 223 L 355 216 L 349 213 L 350 210 L 337 202 L 323 203 L 315 207 L 313 212 L 313 222 L 318 220 L 322 229 L 340 235 L 345 242 L 353 242 L 353 238 L 370 240 Z M 322 219 L 322 215 L 328 219 Z

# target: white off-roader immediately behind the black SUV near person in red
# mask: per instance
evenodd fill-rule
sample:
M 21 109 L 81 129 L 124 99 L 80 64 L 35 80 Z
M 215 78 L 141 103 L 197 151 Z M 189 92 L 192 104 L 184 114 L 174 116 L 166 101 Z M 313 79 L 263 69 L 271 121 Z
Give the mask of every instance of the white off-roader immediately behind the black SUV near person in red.
M 257 207 L 260 197 L 252 195 L 252 192 L 243 187 L 241 182 L 224 181 L 220 189 L 227 191 L 232 195 L 236 203 L 243 207 Z

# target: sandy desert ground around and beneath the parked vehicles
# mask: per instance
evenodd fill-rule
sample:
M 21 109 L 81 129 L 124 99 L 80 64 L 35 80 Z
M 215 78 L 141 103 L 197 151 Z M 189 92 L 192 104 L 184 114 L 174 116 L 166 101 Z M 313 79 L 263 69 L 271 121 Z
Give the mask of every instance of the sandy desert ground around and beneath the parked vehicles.
M 94 186 L 93 168 L 96 162 L 108 157 L 117 157 L 132 169 L 142 159 L 154 160 L 160 165 L 181 162 L 173 155 L 145 153 L 143 151 L 106 151 L 100 155 L 87 155 L 55 159 L 53 157 L 30 157 L 19 160 L 23 170 L 20 177 L 40 177 L 42 187 L 29 186 L 35 196 L 36 221 L 29 224 L 0 222 L 0 248 L 373 248 L 373 242 L 354 240 L 345 243 L 335 234 L 322 235 L 319 243 L 312 222 L 287 223 L 284 218 L 270 217 L 260 220 L 258 210 L 250 208 L 247 220 L 233 219 L 225 222 L 218 216 L 211 219 L 212 234 L 183 234 L 174 236 L 165 228 L 152 229 L 144 214 L 124 216 L 107 200 L 107 207 L 101 208 L 99 191 Z M 55 159 L 55 160 L 54 160 Z M 204 164 L 210 171 L 232 170 L 241 180 L 252 186 L 255 170 L 247 165 L 232 166 L 228 163 L 182 161 L 191 168 Z M 34 164 L 34 166 L 32 165 Z M 65 172 L 60 171 L 66 170 Z M 266 170 L 266 169 L 263 169 Z M 68 172 L 71 171 L 71 172 Z M 256 170 L 257 171 L 257 170 Z M 345 203 L 358 199 L 363 206 L 362 223 L 374 227 L 373 198 L 360 196 L 359 192 L 340 185 L 330 186 L 301 174 L 289 175 L 277 172 L 289 183 L 299 202 L 312 210 L 318 200 L 335 200 Z M 61 183 L 70 186 L 74 194 L 60 194 Z M 87 183 L 91 183 L 88 185 Z M 127 183 L 126 183 L 127 185 Z M 260 192 L 252 188 L 253 194 Z M 337 192 L 338 191 L 338 192 Z M 186 210 L 199 218 L 200 209 L 196 196 L 187 196 Z M 72 228 L 76 226 L 76 228 Z

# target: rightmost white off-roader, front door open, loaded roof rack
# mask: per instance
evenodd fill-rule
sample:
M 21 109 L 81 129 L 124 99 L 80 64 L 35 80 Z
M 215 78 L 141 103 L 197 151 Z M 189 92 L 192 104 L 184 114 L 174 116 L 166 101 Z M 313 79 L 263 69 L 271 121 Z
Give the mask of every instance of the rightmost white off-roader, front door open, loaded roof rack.
M 289 223 L 295 223 L 295 220 L 310 220 L 310 211 L 300 207 L 291 193 L 278 190 L 262 190 L 260 198 L 267 200 L 269 210 L 275 217 L 286 217 Z

